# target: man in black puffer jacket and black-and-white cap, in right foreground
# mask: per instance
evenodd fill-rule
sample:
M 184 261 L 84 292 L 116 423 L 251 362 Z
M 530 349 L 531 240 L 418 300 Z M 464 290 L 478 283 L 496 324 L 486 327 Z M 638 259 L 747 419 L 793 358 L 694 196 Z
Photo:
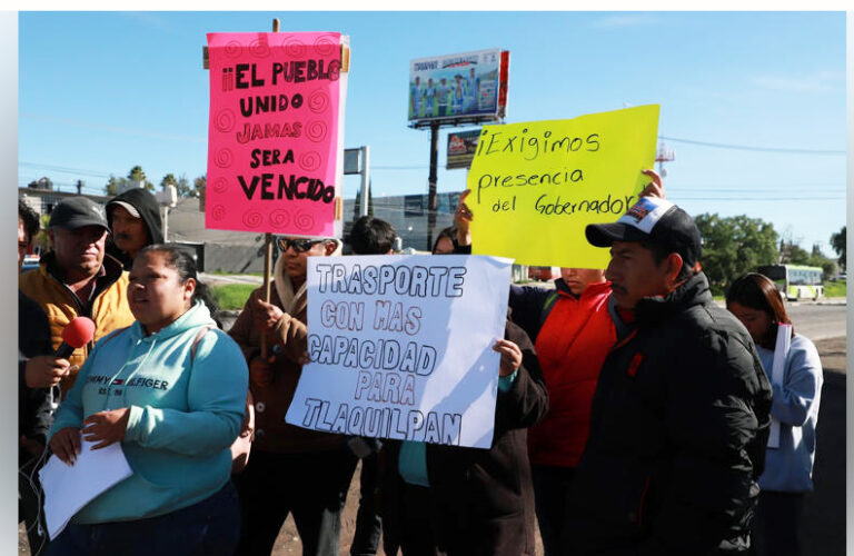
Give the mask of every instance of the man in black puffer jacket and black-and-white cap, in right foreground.
M 749 553 L 771 387 L 749 335 L 695 271 L 697 227 L 672 202 L 642 197 L 586 235 L 610 247 L 617 342 L 599 374 L 560 554 Z

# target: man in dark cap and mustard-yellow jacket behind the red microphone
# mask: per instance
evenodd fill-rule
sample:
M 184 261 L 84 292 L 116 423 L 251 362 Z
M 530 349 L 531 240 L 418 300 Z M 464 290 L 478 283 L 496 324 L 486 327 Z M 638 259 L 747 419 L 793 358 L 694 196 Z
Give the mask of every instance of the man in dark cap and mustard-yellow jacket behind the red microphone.
M 59 383 L 62 396 L 73 384 L 95 341 L 133 322 L 128 305 L 128 274 L 105 255 L 109 228 L 103 209 L 87 197 L 69 197 L 53 208 L 48 224 L 51 251 L 40 268 L 20 276 L 18 285 L 48 315 L 52 349 L 62 330 L 79 316 L 95 321 L 95 338 L 68 357 L 71 367 Z

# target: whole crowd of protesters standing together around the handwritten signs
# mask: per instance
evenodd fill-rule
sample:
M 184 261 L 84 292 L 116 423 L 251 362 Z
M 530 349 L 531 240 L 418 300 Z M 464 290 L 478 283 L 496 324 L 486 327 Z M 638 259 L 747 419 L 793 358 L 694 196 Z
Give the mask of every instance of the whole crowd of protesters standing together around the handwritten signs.
M 340 255 L 340 239 L 278 237 L 269 297 L 255 290 L 226 334 L 192 257 L 162 244 L 150 193 L 130 190 L 106 211 L 62 201 L 50 251 L 19 279 L 19 516 L 31 554 L 269 555 L 292 515 L 304 556 L 337 555 L 359 461 L 351 556 L 380 545 L 389 556 L 533 555 L 537 523 L 546 556 L 801 554 L 815 347 L 793 331 L 772 386 L 777 325 L 791 324 L 774 284 L 744 276 L 717 307 L 694 221 L 644 173 L 635 206 L 586 229 L 609 249 L 606 269 L 510 287 L 489 449 L 285 421 L 307 361 L 307 259 Z M 40 226 L 23 202 L 18 216 L 20 268 Z M 463 193 L 434 255 L 470 254 L 474 218 Z M 363 217 L 346 239 L 352 255 L 389 255 L 395 238 Z M 93 338 L 62 357 L 78 316 Z M 116 443 L 131 476 L 48 539 L 40 466 Z

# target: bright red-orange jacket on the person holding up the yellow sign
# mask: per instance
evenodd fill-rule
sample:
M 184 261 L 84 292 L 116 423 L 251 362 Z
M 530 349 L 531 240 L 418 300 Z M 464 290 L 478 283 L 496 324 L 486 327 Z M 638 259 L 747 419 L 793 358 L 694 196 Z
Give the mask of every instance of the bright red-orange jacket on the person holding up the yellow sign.
M 590 284 L 575 298 L 564 288 L 536 339 L 546 380 L 546 418 L 528 429 L 534 465 L 576 467 L 590 429 L 599 369 L 616 341 L 608 314 L 610 282 Z

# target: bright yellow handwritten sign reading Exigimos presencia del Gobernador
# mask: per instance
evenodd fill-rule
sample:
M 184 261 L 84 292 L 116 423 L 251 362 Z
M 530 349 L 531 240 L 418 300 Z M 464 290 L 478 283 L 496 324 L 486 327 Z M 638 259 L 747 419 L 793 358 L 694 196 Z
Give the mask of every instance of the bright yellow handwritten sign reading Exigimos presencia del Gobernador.
M 473 252 L 520 265 L 605 268 L 584 236 L 616 221 L 653 168 L 658 105 L 570 120 L 484 126 L 468 172 Z

